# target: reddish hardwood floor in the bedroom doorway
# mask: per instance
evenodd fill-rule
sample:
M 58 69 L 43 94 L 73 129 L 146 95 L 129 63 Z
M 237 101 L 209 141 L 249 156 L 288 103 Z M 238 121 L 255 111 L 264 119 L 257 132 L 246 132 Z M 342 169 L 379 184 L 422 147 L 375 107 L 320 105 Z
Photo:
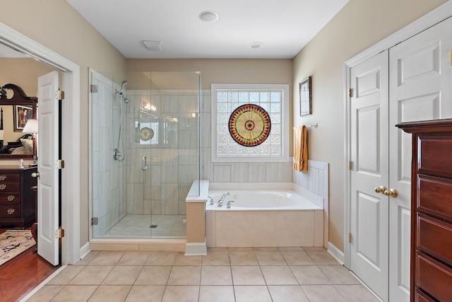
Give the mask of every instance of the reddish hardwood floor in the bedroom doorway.
M 6 228 L 0 228 L 4 233 Z M 36 252 L 36 245 L 0 266 L 0 300 L 20 301 L 55 272 L 54 267 Z

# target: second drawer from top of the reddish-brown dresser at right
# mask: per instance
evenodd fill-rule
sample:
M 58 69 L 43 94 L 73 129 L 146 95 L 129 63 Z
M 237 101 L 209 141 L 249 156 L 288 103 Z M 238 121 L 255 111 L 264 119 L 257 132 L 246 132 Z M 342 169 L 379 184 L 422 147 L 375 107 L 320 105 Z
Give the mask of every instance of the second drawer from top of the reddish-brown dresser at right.
M 417 175 L 417 211 L 427 211 L 452 222 L 452 180 Z

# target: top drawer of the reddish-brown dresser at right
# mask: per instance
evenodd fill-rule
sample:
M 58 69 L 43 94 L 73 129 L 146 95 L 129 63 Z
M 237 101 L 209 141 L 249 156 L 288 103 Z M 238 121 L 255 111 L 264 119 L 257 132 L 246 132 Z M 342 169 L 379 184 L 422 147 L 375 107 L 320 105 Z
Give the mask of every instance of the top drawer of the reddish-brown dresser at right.
M 435 137 L 420 134 L 418 142 L 419 172 L 422 174 L 452 176 L 452 136 Z

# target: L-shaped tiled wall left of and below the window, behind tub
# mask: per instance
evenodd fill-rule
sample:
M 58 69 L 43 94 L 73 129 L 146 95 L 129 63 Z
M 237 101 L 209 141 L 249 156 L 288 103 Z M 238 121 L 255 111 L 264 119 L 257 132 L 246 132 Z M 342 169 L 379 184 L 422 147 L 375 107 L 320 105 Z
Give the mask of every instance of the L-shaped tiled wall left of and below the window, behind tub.
M 201 134 L 203 135 L 203 170 L 201 178 L 210 182 L 292 182 L 292 161 L 287 163 L 212 163 L 210 161 L 212 125 L 210 90 L 203 91 Z

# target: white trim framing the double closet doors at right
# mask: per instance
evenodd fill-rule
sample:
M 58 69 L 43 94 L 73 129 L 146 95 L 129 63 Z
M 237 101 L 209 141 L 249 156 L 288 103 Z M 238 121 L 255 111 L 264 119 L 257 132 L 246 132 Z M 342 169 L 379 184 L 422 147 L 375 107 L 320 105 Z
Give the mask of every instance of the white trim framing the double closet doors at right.
M 354 57 L 348 59 L 345 62 L 345 89 L 344 89 L 344 179 L 346 180 L 344 183 L 344 264 L 346 267 L 350 267 L 350 243 L 348 242 L 347 234 L 350 233 L 350 170 L 348 170 L 348 161 L 350 160 L 350 149 L 348 144 L 350 143 L 350 98 L 348 97 L 348 89 L 351 87 L 350 83 L 350 70 L 353 66 L 357 66 L 367 59 L 374 57 L 374 55 L 383 52 L 384 50 L 388 50 L 389 48 L 408 40 L 410 37 L 421 33 L 423 30 L 427 30 L 427 28 L 432 27 L 444 21 L 446 18 L 450 18 L 452 16 L 452 0 L 447 1 L 445 4 L 435 8 L 433 11 L 427 13 L 421 18 L 413 21 L 409 25 L 404 28 L 398 30 L 396 33 L 386 37 L 375 45 L 369 47 L 367 50 L 360 52 Z

